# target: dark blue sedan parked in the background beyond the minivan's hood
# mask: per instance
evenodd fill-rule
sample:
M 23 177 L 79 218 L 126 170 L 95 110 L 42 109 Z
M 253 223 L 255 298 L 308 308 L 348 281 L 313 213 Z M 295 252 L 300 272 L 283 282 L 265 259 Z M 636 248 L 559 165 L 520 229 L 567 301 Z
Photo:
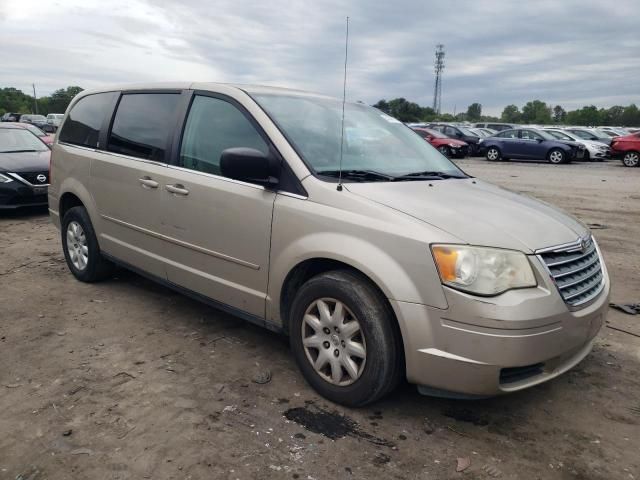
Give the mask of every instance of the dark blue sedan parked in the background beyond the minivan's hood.
M 567 163 L 584 157 L 584 146 L 559 140 L 544 130 L 514 128 L 504 130 L 482 141 L 487 160 L 547 160 Z

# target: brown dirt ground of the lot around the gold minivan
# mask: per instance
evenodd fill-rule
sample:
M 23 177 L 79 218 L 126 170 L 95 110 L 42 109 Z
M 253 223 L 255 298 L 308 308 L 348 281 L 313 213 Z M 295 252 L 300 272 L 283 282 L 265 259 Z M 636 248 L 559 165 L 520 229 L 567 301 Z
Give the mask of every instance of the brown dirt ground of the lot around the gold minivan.
M 459 164 L 593 225 L 612 301 L 640 302 L 640 169 Z M 285 339 L 132 273 L 77 282 L 46 211 L 3 214 L 0 479 L 640 479 L 639 336 L 610 310 L 593 353 L 544 385 L 483 401 L 404 385 L 346 409 Z

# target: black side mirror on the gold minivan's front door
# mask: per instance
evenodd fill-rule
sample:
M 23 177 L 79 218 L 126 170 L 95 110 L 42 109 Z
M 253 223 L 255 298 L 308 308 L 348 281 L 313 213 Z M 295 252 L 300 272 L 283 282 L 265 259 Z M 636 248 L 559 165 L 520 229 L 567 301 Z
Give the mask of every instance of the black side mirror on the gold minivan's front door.
M 254 148 L 227 148 L 220 155 L 220 173 L 234 180 L 275 186 L 279 170 L 274 157 Z

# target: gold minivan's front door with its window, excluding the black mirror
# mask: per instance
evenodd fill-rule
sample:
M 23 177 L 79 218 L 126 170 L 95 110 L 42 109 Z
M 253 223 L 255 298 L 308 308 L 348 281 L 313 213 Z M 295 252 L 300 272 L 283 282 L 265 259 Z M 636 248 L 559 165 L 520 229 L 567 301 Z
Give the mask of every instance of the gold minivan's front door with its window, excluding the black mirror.
M 178 165 L 168 167 L 171 181 L 162 185 L 167 277 L 263 318 L 276 194 L 221 175 L 220 155 L 233 147 L 269 150 L 239 106 L 194 95 Z

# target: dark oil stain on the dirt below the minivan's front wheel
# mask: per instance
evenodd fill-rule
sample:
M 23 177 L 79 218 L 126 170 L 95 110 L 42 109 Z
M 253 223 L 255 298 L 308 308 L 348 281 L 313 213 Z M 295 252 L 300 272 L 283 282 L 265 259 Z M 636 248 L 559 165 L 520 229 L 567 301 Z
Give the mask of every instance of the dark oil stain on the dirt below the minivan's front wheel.
M 287 420 L 297 423 L 310 432 L 324 435 L 331 440 L 353 437 L 383 447 L 395 446 L 389 440 L 363 432 L 356 421 L 335 410 L 330 412 L 315 405 L 305 405 L 304 407 L 290 408 L 284 412 L 284 416 Z

